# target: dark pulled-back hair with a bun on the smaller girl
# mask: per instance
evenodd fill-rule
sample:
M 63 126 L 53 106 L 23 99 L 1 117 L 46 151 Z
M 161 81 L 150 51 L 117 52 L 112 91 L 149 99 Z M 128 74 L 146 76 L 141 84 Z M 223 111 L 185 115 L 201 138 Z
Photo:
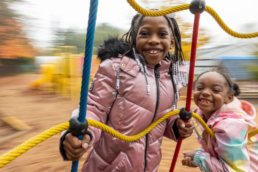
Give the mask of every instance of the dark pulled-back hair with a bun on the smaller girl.
M 207 72 L 217 72 L 217 73 L 219 73 L 220 75 L 222 75 L 226 79 L 227 82 L 225 84 L 228 86 L 228 94 L 233 93 L 234 96 L 238 96 L 241 93 L 238 84 L 234 83 L 232 81 L 230 75 L 225 72 L 225 69 L 212 69 L 212 70 L 208 70 L 208 71 L 205 71 L 205 72 L 201 73 L 197 77 L 197 79 L 193 82 L 193 89 L 195 89 L 195 86 L 196 86 L 196 83 L 197 83 L 199 77 L 201 75 L 203 75 L 204 73 L 207 73 Z

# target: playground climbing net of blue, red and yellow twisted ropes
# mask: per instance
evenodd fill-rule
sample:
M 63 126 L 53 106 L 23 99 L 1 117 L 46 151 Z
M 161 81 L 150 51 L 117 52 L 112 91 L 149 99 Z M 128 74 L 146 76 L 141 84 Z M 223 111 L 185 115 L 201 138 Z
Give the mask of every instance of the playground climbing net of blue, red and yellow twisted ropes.
M 134 0 L 126 0 L 136 11 L 139 13 L 155 17 L 155 16 L 162 16 L 167 15 L 173 12 L 178 12 L 182 10 L 187 10 L 190 7 L 190 4 L 183 4 L 174 7 L 170 7 L 164 10 L 146 10 L 139 6 Z M 89 77 L 90 77 L 90 68 L 91 68 L 91 57 L 92 57 L 92 50 L 93 50 L 93 40 L 94 40 L 94 33 L 95 33 L 95 24 L 96 24 L 96 14 L 97 14 L 97 7 L 98 7 L 98 0 L 91 0 L 90 1 L 90 13 L 88 19 L 88 27 L 87 27 L 87 35 L 86 35 L 86 46 L 85 46 L 85 57 L 84 57 L 84 65 L 83 65 L 83 75 L 82 75 L 82 87 L 81 87 L 81 96 L 80 96 L 80 108 L 79 108 L 79 117 L 78 120 L 80 122 L 85 121 L 86 117 L 86 110 L 87 110 L 87 96 L 88 96 L 88 85 L 89 85 Z M 227 32 L 229 35 L 237 38 L 254 38 L 258 36 L 258 32 L 242 34 L 239 32 L 235 32 L 231 30 L 219 17 L 219 15 L 209 6 L 206 6 L 205 11 L 208 12 L 219 24 L 219 26 Z M 193 37 L 192 37 L 192 47 L 191 47 L 191 57 L 190 57 L 190 70 L 189 70 L 189 81 L 188 81 L 188 88 L 187 88 L 187 100 L 186 100 L 186 110 L 190 111 L 191 105 L 191 94 L 192 94 L 192 84 L 193 84 L 193 73 L 194 73 L 194 64 L 195 64 L 195 55 L 196 55 L 196 45 L 197 45 L 197 38 L 198 38 L 198 27 L 199 27 L 199 18 L 200 13 L 195 14 L 195 21 L 193 27 Z M 152 124 L 150 124 L 146 129 L 142 132 L 133 135 L 133 136 L 126 136 L 123 135 L 114 129 L 108 127 L 107 125 L 94 121 L 94 120 L 87 120 L 89 126 L 93 126 L 107 132 L 108 134 L 118 138 L 119 140 L 132 142 L 138 140 L 139 138 L 145 136 L 151 129 L 157 126 L 160 122 L 165 120 L 168 117 L 174 116 L 179 114 L 179 110 L 172 111 L 166 113 L 163 117 L 159 118 Z M 204 127 L 209 135 L 212 138 L 215 138 L 215 134 L 212 130 L 206 125 L 206 123 L 196 114 L 193 113 L 193 117 L 200 122 L 200 124 Z M 185 121 L 187 122 L 187 121 Z M 0 157 L 0 168 L 4 167 L 6 164 L 10 163 L 12 160 L 16 159 L 18 156 L 22 155 L 23 153 L 27 152 L 29 149 L 33 148 L 34 146 L 38 145 L 39 143 L 43 142 L 49 137 L 52 137 L 55 134 L 58 134 L 64 130 L 69 129 L 69 122 L 64 124 L 57 125 L 52 127 L 45 132 L 38 134 L 37 136 L 27 140 L 26 142 L 22 143 L 21 145 L 15 147 L 14 149 L 10 150 L 9 152 L 1 155 Z M 256 135 L 258 133 L 258 128 L 248 134 L 248 138 Z M 82 135 L 78 136 L 81 140 Z M 174 157 L 171 163 L 170 172 L 174 170 L 175 162 L 180 150 L 182 142 L 182 137 L 179 137 L 176 150 L 174 153 Z M 78 161 L 72 162 L 72 172 L 76 172 L 78 169 Z

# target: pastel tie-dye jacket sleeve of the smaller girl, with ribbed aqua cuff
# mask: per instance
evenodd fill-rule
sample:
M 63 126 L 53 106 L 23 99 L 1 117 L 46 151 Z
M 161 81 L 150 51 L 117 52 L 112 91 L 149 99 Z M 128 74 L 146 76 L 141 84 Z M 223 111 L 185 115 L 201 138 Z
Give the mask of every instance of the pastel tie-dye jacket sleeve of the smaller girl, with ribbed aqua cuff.
M 224 119 L 215 129 L 216 141 L 209 136 L 218 158 L 197 151 L 193 162 L 201 171 L 249 171 L 250 161 L 247 148 L 248 124 L 243 119 Z

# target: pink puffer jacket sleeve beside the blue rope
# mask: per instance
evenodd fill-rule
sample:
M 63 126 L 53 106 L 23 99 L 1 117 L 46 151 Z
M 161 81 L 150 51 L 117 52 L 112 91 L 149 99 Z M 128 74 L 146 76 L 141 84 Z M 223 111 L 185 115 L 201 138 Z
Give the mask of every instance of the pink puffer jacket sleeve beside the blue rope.
M 96 72 L 92 81 L 93 87 L 88 92 L 86 119 L 92 119 L 106 124 L 109 112 L 117 96 L 117 66 L 118 64 L 114 64 L 110 59 L 106 59 L 100 64 L 99 69 Z M 73 111 L 72 116 L 78 115 L 78 113 L 79 109 Z M 85 151 L 87 151 L 91 148 L 92 145 L 97 143 L 100 140 L 101 135 L 100 129 L 91 126 L 88 127 L 88 132 L 88 134 L 92 135 L 92 139 L 90 144 L 88 145 L 88 148 Z M 65 140 L 62 138 L 63 136 L 61 136 L 60 139 L 60 153 L 65 160 L 65 153 L 61 152 L 62 141 Z

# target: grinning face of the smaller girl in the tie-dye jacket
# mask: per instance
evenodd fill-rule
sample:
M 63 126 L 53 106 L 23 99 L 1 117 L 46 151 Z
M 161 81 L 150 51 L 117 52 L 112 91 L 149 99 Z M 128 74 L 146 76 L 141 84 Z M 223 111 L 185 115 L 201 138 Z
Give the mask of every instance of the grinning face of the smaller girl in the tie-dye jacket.
M 213 71 L 206 72 L 196 83 L 193 100 L 204 114 L 211 116 L 224 103 L 233 100 L 233 93 L 228 94 L 228 91 L 227 80 L 223 75 Z

